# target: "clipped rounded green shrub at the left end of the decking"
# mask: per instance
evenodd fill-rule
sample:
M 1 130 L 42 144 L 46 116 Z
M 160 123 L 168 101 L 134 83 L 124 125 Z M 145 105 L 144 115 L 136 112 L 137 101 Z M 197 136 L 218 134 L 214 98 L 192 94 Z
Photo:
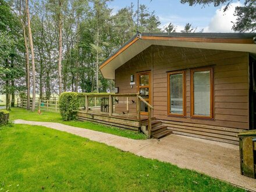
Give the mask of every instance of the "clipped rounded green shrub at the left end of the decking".
M 75 120 L 79 111 L 79 97 L 77 93 L 65 92 L 59 97 L 59 111 L 63 120 Z

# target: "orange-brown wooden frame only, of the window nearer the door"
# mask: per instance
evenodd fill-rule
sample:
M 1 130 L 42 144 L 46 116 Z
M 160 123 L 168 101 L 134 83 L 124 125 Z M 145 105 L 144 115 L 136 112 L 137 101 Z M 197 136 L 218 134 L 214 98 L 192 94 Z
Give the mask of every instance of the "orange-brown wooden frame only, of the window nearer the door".
M 170 112 L 170 76 L 172 74 L 182 74 L 182 78 L 183 78 L 183 81 L 182 81 L 183 113 L 182 114 Z M 168 115 L 186 117 L 186 70 L 177 70 L 174 72 L 167 73 L 167 93 L 168 93 L 168 98 L 167 98 L 168 99 L 168 111 L 167 111 Z

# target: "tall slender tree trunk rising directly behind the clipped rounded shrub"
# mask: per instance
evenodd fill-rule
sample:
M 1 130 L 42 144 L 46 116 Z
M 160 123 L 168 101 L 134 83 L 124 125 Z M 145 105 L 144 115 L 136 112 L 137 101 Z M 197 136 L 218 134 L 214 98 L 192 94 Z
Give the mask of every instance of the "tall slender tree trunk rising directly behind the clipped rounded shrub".
M 58 63 L 58 76 L 59 76 L 59 95 L 62 93 L 62 75 L 61 75 L 61 62 L 62 62 L 62 2 L 59 0 L 59 63 Z

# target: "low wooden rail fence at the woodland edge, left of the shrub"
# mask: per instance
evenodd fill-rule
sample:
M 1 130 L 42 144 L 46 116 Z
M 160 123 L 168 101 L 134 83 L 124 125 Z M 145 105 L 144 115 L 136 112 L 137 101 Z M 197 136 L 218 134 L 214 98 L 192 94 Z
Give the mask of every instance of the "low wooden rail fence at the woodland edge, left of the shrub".
M 17 98 L 17 107 L 26 108 L 27 99 Z M 30 108 L 32 107 L 32 99 L 30 99 Z M 39 99 L 35 98 L 35 108 L 40 111 L 59 112 L 59 101 L 57 98 Z

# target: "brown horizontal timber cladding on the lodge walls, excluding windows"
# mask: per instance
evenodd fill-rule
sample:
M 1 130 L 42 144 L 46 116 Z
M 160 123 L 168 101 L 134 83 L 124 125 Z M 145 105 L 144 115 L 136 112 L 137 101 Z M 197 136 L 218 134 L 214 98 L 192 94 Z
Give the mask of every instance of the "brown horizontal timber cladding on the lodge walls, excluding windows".
M 154 46 L 152 104 L 154 117 L 174 133 L 238 144 L 236 134 L 249 129 L 248 53 Z M 151 70 L 152 46 L 116 69 L 119 93 L 136 93 L 130 74 Z M 190 69 L 214 67 L 214 119 L 190 118 Z M 168 116 L 167 72 L 186 70 L 186 117 Z M 134 108 L 136 109 L 136 108 Z M 119 110 L 117 108 L 117 110 Z M 122 109 L 121 109 L 122 110 Z

